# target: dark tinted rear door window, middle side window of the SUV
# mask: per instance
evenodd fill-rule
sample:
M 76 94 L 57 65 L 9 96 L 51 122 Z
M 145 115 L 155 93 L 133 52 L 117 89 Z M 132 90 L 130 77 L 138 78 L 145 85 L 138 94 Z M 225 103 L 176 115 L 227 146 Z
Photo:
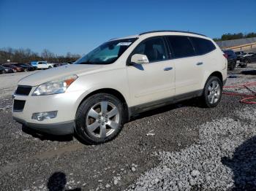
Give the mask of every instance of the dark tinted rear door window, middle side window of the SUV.
M 187 36 L 167 36 L 167 39 L 170 47 L 173 49 L 174 58 L 184 58 L 195 55 L 194 47 Z

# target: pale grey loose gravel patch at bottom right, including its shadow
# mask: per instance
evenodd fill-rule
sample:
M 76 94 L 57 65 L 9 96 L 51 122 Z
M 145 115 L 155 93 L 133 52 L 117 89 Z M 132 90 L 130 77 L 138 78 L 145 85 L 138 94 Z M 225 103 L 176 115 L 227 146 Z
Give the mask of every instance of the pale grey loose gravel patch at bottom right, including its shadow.
M 256 109 L 234 117 L 200 125 L 199 140 L 186 149 L 154 152 L 161 162 L 129 190 L 255 190 Z

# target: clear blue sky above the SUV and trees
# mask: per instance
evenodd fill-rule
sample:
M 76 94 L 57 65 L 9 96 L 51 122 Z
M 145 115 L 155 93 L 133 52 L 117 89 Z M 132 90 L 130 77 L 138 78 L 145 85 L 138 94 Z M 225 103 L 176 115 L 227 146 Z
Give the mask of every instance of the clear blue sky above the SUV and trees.
M 256 32 L 255 0 L 0 0 L 0 48 L 80 55 L 121 36 Z

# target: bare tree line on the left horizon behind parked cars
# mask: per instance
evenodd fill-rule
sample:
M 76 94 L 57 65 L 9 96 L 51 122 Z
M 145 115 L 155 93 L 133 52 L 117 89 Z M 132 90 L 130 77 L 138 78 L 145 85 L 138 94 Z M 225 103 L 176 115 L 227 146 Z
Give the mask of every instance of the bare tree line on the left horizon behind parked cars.
M 31 63 L 31 61 L 64 63 L 76 61 L 78 58 L 80 58 L 79 54 L 72 54 L 71 52 L 67 52 L 66 55 L 56 55 L 47 49 L 43 50 L 40 55 L 37 52 L 33 52 L 29 48 L 13 49 L 8 47 L 0 49 L 0 63 L 7 63 L 7 60 L 10 60 L 11 63 Z

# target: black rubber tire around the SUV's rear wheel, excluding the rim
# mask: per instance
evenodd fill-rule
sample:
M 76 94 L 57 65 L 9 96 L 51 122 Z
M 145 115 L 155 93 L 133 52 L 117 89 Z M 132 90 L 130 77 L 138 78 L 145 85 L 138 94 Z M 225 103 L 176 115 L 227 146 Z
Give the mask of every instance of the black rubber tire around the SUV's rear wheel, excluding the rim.
M 211 85 L 211 82 L 213 82 L 213 81 L 217 81 L 218 83 L 219 83 L 219 85 L 220 85 L 220 96 L 219 96 L 219 100 L 216 102 L 216 103 L 214 103 L 214 104 L 211 104 L 209 101 L 208 101 L 208 87 L 209 87 L 209 85 Z M 215 106 L 217 106 L 218 104 L 219 104 L 219 101 L 221 101 L 221 99 L 222 99 L 222 89 L 223 89 L 223 83 L 222 83 L 222 81 L 219 79 L 219 77 L 213 77 L 213 76 L 211 76 L 211 77 L 209 77 L 208 78 L 208 80 L 207 80 L 207 82 L 206 82 L 206 85 L 205 85 L 205 87 L 203 88 L 203 102 L 204 102 L 204 104 L 205 104 L 205 106 L 206 107 L 209 107 L 209 108 L 211 108 L 211 107 L 215 107 Z

